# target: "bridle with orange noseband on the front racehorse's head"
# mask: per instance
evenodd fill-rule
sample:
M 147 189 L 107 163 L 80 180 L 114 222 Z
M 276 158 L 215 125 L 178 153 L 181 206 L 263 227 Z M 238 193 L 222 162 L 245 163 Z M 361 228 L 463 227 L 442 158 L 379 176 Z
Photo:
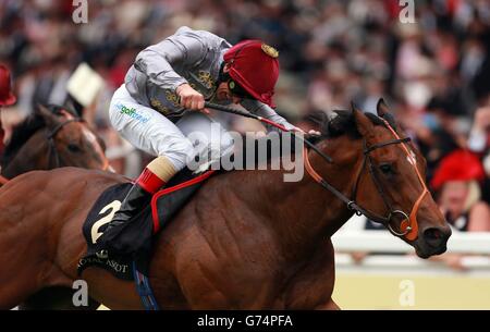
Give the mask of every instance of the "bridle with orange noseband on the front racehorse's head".
M 380 118 L 381 119 L 381 118 Z M 331 184 L 329 184 L 321 175 L 319 175 L 314 168 L 311 167 L 311 163 L 309 162 L 309 157 L 308 157 L 308 150 L 304 149 L 303 150 L 303 155 L 304 155 L 304 160 L 305 160 L 305 168 L 307 170 L 307 172 L 310 174 L 310 176 L 317 182 L 319 183 L 323 188 L 328 189 L 329 192 L 331 192 L 333 195 L 335 195 L 340 200 L 342 200 L 343 202 L 346 204 L 347 208 L 352 211 L 354 211 L 357 216 L 364 214 L 366 216 L 368 219 L 375 221 L 375 222 L 379 222 L 382 223 L 393 235 L 395 236 L 400 236 L 403 237 L 405 236 L 406 239 L 408 241 L 414 241 L 417 238 L 418 236 L 418 222 L 417 222 L 417 212 L 418 209 L 420 207 L 420 202 L 424 199 L 424 197 L 426 196 L 426 194 L 429 193 L 429 190 L 427 189 L 427 186 L 422 180 L 422 176 L 420 175 L 420 172 L 417 169 L 416 165 L 416 160 L 415 158 L 411 155 L 408 148 L 406 147 L 406 143 L 408 143 L 411 140 L 409 137 L 405 137 L 405 138 L 401 138 L 399 136 L 399 134 L 390 126 L 390 124 L 384 120 L 381 119 L 385 126 L 390 130 L 390 132 L 395 136 L 395 139 L 391 139 L 388 142 L 383 142 L 383 143 L 378 143 L 375 144 L 372 146 L 367 146 L 366 139 L 364 138 L 363 140 L 363 162 L 362 165 L 359 168 L 359 170 L 357 171 L 357 176 L 356 176 L 356 181 L 354 183 L 354 187 L 351 192 L 351 197 L 348 198 L 346 197 L 343 193 L 341 193 L 340 190 L 338 190 L 335 187 L 333 187 Z M 375 171 L 375 165 L 372 163 L 372 159 L 370 156 L 370 152 L 372 152 L 373 150 L 390 146 L 390 145 L 397 145 L 400 144 L 402 146 L 402 148 L 404 149 L 404 151 L 406 152 L 407 157 L 409 158 L 411 164 L 414 165 L 415 172 L 417 173 L 417 177 L 420 181 L 420 184 L 422 185 L 422 193 L 420 194 L 420 196 L 418 197 L 418 199 L 416 200 L 416 202 L 414 204 L 414 207 L 412 208 L 412 211 L 409 214 L 407 214 L 406 212 L 402 211 L 402 210 L 395 210 L 393 208 L 393 206 L 390 204 L 389 199 L 387 198 L 387 195 L 384 193 L 383 186 L 381 185 L 381 181 L 379 180 L 376 171 Z M 358 184 L 362 177 L 362 174 L 364 173 L 364 170 L 366 169 L 366 165 L 368 168 L 369 174 L 375 183 L 376 189 L 378 190 L 378 194 L 381 196 L 381 199 L 387 208 L 387 210 L 389 211 L 388 217 L 383 217 L 383 216 L 379 216 L 366 208 L 360 207 L 356 201 L 356 197 L 357 197 L 357 189 L 358 189 Z M 403 218 L 402 223 L 400 224 L 400 229 L 401 232 L 396 232 L 395 230 L 393 230 L 393 228 L 391 226 L 390 221 L 395 217 L 395 216 L 401 216 Z

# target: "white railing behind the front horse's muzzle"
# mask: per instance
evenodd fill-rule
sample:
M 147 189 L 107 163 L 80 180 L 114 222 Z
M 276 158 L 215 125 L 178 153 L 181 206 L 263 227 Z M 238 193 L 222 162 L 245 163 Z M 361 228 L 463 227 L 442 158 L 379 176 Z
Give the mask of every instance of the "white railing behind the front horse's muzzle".
M 490 276 L 490 233 L 453 232 L 448 242 L 446 253 L 462 255 L 461 266 L 464 271 L 457 271 L 443 261 L 416 257 L 415 249 L 412 246 L 388 231 L 366 231 L 363 225 L 364 219 L 355 217 L 332 236 L 333 247 L 335 248 L 335 266 L 339 271 L 424 274 L 466 273 Z M 354 259 L 354 253 L 356 255 L 358 253 L 376 255 Z

